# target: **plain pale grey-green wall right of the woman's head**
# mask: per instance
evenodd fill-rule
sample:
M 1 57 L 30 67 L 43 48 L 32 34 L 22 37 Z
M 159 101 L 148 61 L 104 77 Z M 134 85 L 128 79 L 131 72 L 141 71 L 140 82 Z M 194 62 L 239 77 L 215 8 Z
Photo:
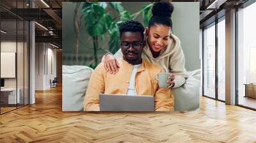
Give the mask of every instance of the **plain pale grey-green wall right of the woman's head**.
M 173 2 L 173 34 L 179 40 L 188 71 L 200 69 L 200 15 L 199 2 Z

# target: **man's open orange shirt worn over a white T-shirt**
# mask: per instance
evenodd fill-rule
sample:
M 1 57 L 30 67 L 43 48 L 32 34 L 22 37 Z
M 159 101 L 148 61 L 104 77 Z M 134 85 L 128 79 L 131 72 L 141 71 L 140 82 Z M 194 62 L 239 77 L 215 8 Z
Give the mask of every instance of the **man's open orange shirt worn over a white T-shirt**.
M 99 111 L 99 94 L 127 93 L 133 66 L 124 59 L 118 59 L 118 62 L 120 68 L 115 75 L 108 73 L 103 63 L 95 68 L 84 97 L 85 111 Z M 174 109 L 174 96 L 171 89 L 158 87 L 154 77 L 159 72 L 164 72 L 163 68 L 143 59 L 135 75 L 136 93 L 138 96 L 155 96 L 155 110 L 171 111 Z

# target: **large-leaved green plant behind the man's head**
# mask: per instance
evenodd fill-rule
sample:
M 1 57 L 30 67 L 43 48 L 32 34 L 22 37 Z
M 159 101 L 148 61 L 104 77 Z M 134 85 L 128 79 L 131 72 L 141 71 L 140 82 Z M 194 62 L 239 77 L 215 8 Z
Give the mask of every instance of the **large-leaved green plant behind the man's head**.
M 109 5 L 108 5 L 109 4 Z M 118 13 L 118 17 L 111 17 L 107 7 L 111 6 L 113 10 Z M 100 3 L 83 3 L 82 13 L 84 16 L 84 24 L 86 31 L 92 37 L 93 40 L 93 56 L 94 64 L 90 66 L 95 68 L 99 64 L 98 51 L 104 50 L 105 52 L 115 53 L 119 47 L 119 26 L 126 20 L 136 19 L 140 13 L 143 14 L 143 20 L 145 25 L 148 25 L 148 19 L 151 16 L 152 4 L 143 6 L 143 8 L 132 14 L 129 11 L 124 10 L 121 2 L 100 2 Z M 108 49 L 100 47 L 100 38 L 104 40 L 104 37 L 109 35 Z

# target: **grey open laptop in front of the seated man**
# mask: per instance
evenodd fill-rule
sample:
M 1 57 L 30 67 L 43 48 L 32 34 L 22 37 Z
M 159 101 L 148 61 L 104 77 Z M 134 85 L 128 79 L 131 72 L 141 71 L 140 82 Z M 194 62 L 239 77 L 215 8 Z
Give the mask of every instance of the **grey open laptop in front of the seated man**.
M 154 111 L 154 96 L 100 94 L 100 111 Z

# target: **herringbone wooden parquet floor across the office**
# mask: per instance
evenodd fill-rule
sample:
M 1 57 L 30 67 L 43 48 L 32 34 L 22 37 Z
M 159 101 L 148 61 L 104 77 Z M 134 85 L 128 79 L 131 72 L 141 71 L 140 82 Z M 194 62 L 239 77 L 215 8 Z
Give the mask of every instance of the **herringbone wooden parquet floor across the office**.
M 256 112 L 205 97 L 198 112 L 62 112 L 57 87 L 1 115 L 0 142 L 256 142 Z

